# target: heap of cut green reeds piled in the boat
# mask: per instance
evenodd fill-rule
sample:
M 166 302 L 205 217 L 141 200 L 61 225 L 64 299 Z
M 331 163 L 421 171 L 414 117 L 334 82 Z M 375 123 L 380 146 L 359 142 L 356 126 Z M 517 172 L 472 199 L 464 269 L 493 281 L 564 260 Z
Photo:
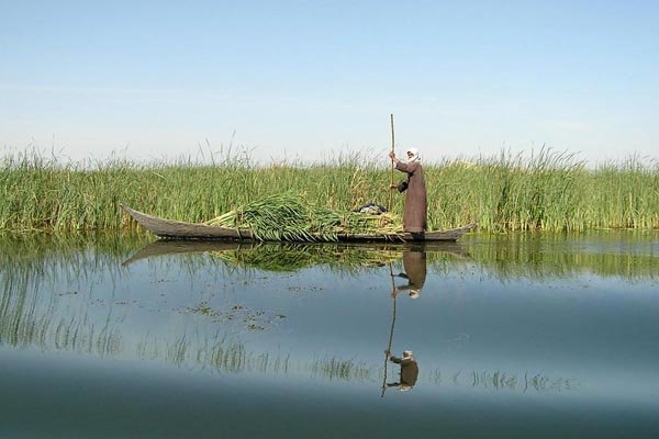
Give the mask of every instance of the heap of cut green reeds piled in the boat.
M 315 206 L 297 194 L 269 195 L 205 224 L 248 228 L 259 240 L 334 241 L 339 234 L 392 235 L 403 232 L 391 214 L 370 215 Z

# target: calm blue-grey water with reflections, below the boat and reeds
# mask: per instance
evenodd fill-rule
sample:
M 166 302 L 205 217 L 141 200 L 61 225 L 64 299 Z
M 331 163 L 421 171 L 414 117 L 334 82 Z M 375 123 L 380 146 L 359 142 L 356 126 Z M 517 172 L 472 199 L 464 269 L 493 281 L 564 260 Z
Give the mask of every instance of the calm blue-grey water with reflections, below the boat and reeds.
M 659 435 L 657 233 L 152 241 L 1 239 L 0 437 Z

